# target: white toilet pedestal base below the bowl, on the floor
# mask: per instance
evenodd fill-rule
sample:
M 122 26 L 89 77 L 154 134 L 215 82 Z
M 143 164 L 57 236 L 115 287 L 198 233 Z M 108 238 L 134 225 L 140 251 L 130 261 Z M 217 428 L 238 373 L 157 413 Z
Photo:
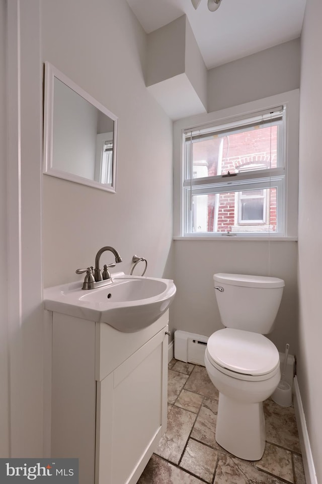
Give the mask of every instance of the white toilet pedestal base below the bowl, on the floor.
M 265 449 L 263 403 L 243 403 L 219 392 L 216 442 L 245 460 L 259 460 Z

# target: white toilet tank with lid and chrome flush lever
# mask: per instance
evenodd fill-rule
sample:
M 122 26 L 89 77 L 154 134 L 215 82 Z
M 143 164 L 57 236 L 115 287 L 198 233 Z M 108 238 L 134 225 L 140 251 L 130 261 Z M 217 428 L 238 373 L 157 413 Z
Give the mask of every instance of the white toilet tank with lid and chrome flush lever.
M 221 322 L 227 328 L 268 334 L 282 299 L 282 279 L 259 275 L 214 274 Z

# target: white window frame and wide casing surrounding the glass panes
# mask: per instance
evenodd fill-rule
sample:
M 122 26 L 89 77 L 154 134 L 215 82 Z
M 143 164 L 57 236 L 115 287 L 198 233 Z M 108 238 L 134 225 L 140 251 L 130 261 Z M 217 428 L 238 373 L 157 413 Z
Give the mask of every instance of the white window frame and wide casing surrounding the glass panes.
M 261 113 L 262 111 L 268 111 L 269 109 L 276 108 L 277 106 L 283 106 L 285 109 L 285 171 L 280 171 L 279 168 L 274 169 L 275 172 L 271 173 L 272 182 L 278 180 L 280 175 L 285 173 L 285 187 L 281 191 L 280 206 L 284 211 L 284 225 L 285 229 L 277 230 L 273 233 L 236 233 L 234 239 L 245 239 L 250 238 L 255 240 L 259 238 L 263 240 L 265 238 L 275 237 L 276 240 L 285 239 L 297 239 L 297 199 L 298 199 L 298 129 L 299 129 L 299 90 L 289 91 L 287 93 L 282 93 L 279 95 L 271 96 L 269 98 L 252 101 L 243 105 L 223 109 L 208 114 L 200 114 L 191 116 L 189 118 L 180 119 L 174 122 L 174 157 L 175 157 L 175 172 L 174 172 L 174 238 L 175 239 L 203 239 L 216 240 L 218 238 L 222 239 L 221 233 L 214 234 L 210 232 L 195 232 L 187 230 L 185 227 L 185 217 L 184 217 L 184 170 L 182 166 L 182 154 L 185 150 L 185 143 L 183 140 L 183 133 L 187 130 L 194 130 L 196 126 L 202 128 L 207 128 L 210 125 L 220 125 L 234 121 L 240 121 L 240 119 L 251 117 L 253 113 Z M 289 165 L 291 170 L 289 170 Z M 273 170 L 273 169 L 272 169 Z M 265 176 L 265 170 L 261 170 L 261 175 Z M 210 178 L 210 177 L 209 177 Z M 216 175 L 213 177 L 215 182 L 221 178 L 221 175 Z M 243 182 L 245 179 L 252 179 L 253 186 L 256 188 L 254 182 L 257 180 L 260 182 L 260 175 L 258 173 L 250 174 L 248 173 L 238 173 L 234 177 L 234 182 Z M 206 193 L 204 181 L 202 179 L 194 179 L 195 186 L 198 186 L 198 193 Z M 262 185 L 262 183 L 261 183 Z M 218 185 L 219 186 L 219 185 Z M 273 186 L 273 185 L 272 185 Z M 220 191 L 224 191 L 222 187 L 219 187 Z M 262 188 L 262 186 L 259 186 Z M 246 187 L 244 186 L 244 189 Z M 187 190 L 186 190 L 187 191 Z M 234 191 L 231 189 L 231 191 Z M 189 194 L 189 193 L 188 193 Z M 278 211 L 280 212 L 280 211 Z M 278 217 L 280 213 L 278 213 Z M 228 234 L 227 234 L 228 235 Z M 230 234 L 229 234 L 230 235 Z

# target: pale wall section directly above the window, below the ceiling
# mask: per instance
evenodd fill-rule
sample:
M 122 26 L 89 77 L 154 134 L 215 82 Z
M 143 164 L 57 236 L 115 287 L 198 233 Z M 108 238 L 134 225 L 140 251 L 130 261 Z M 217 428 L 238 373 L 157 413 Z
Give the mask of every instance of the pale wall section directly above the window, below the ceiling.
M 285 42 L 208 72 L 208 111 L 217 111 L 300 86 L 300 40 Z

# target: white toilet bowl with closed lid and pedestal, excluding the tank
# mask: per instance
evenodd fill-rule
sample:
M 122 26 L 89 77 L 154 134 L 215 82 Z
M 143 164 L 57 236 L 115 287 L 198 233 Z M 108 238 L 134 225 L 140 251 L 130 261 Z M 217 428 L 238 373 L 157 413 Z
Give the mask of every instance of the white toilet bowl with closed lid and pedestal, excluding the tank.
M 205 365 L 219 391 L 217 443 L 241 459 L 259 460 L 265 449 L 262 402 L 281 376 L 277 349 L 262 334 L 220 329 L 208 340 Z

